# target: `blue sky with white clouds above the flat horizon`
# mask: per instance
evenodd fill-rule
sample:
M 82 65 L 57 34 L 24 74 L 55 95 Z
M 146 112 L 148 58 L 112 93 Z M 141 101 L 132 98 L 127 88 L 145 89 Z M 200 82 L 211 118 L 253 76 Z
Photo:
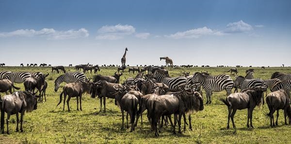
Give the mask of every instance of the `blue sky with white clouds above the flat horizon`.
M 0 63 L 291 66 L 290 0 L 0 0 Z M 13 58 L 12 58 L 13 57 Z

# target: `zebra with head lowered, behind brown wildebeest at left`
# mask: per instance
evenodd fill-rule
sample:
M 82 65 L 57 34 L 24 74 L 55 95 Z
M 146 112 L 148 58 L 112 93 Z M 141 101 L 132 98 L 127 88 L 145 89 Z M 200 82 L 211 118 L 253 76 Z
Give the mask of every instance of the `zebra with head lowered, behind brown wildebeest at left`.
M 73 83 L 76 81 L 87 81 L 87 77 L 83 72 L 65 72 L 65 74 L 60 75 L 55 80 L 55 91 L 58 91 L 60 84 L 63 82 Z

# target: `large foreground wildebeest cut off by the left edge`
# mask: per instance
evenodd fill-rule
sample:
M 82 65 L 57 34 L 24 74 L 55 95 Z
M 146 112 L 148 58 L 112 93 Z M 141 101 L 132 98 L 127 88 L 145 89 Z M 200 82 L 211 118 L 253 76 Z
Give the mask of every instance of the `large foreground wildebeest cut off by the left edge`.
M 37 92 L 37 91 L 36 91 Z M 25 111 L 31 112 L 34 109 L 37 109 L 37 100 L 39 97 L 35 93 L 26 92 L 26 91 L 16 91 L 13 94 L 5 95 L 0 99 L 0 109 L 1 109 L 1 125 L 0 131 L 4 134 L 4 116 L 7 113 L 6 125 L 7 125 L 7 134 L 9 134 L 8 123 L 11 115 L 16 114 L 16 131 L 18 131 L 19 117 L 20 113 L 20 131 L 23 132 L 23 116 Z

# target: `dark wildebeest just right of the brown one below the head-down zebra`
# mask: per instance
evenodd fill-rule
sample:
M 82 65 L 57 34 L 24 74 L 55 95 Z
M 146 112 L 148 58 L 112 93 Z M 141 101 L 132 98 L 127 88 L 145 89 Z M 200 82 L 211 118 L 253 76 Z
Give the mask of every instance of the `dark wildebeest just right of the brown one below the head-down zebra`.
M 104 111 L 106 111 L 106 97 L 115 99 L 115 95 L 112 92 L 116 92 L 116 89 L 125 90 L 125 86 L 121 84 L 109 83 L 105 80 L 100 80 L 92 84 L 91 97 L 95 98 L 98 95 L 100 99 L 100 111 L 102 109 L 102 98 L 104 104 Z M 114 87 L 113 87 L 114 86 Z

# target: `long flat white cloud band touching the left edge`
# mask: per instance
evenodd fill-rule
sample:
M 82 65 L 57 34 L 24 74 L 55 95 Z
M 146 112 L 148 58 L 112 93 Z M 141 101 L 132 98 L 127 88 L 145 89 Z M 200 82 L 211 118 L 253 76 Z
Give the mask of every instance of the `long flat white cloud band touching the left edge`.
M 0 37 L 12 37 L 12 36 L 42 36 L 48 39 L 70 39 L 79 37 L 88 37 L 89 33 L 86 29 L 81 28 L 79 30 L 68 30 L 68 31 L 56 31 L 54 29 L 43 28 L 39 31 L 33 29 L 21 29 L 13 32 L 0 33 Z

